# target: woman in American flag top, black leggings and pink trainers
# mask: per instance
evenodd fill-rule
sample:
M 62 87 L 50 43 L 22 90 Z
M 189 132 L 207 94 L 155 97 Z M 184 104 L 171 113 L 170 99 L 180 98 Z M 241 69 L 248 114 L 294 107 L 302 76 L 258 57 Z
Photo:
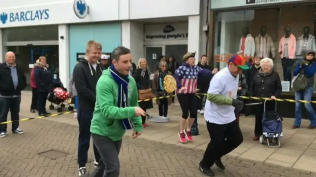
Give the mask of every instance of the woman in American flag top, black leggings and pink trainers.
M 185 63 L 181 65 L 174 73 L 177 81 L 177 97 L 182 110 L 180 120 L 180 132 L 178 133 L 181 143 L 192 141 L 191 126 L 197 118 L 196 90 L 198 75 L 208 75 L 212 77 L 214 73 L 207 69 L 202 69 L 195 65 L 195 53 L 186 53 L 183 56 Z M 190 113 L 190 118 L 189 117 Z M 187 124 L 188 119 L 188 125 Z

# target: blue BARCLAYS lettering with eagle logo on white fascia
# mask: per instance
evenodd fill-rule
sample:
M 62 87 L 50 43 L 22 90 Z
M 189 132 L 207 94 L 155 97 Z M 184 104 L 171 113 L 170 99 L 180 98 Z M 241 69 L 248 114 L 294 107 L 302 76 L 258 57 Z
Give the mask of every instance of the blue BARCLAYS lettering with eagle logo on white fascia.
M 47 20 L 49 19 L 49 9 L 42 10 L 28 10 L 21 12 L 2 12 L 0 14 L 0 20 L 2 24 L 7 22 L 28 22 L 28 21 L 37 21 L 37 20 Z

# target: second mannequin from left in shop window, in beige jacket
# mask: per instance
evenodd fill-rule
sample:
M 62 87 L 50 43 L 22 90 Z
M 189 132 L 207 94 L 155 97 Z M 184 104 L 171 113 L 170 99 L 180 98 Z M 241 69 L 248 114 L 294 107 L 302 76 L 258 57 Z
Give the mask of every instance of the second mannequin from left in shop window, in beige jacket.
M 255 38 L 256 42 L 256 56 L 261 59 L 269 57 L 275 59 L 275 45 L 272 38 L 267 34 L 267 28 L 262 26 L 260 28 L 260 34 Z M 271 54 L 271 57 L 270 57 Z

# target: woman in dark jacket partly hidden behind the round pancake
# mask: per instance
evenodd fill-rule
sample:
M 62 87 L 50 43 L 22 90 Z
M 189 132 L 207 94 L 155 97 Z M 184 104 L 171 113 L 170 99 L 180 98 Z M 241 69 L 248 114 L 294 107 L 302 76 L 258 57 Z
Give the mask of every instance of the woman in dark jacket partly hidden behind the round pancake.
M 167 117 L 168 115 L 168 105 L 172 103 L 172 97 L 165 98 L 165 96 L 172 95 L 165 91 L 163 87 L 163 80 L 166 75 L 171 75 L 172 73 L 168 71 L 168 64 L 166 61 L 160 61 L 159 69 L 154 74 L 153 79 L 153 92 L 156 97 L 164 97 L 157 99 L 156 103 L 159 105 L 159 116 Z

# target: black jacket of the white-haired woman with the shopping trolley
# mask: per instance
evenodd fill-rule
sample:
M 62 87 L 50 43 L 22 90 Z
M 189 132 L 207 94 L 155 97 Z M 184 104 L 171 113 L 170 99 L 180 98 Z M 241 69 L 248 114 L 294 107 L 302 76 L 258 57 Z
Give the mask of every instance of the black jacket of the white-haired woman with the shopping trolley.
M 268 97 L 275 96 L 279 98 L 282 93 L 282 85 L 280 76 L 276 71 L 271 74 L 262 76 L 257 72 L 254 75 L 250 88 L 250 96 Z

